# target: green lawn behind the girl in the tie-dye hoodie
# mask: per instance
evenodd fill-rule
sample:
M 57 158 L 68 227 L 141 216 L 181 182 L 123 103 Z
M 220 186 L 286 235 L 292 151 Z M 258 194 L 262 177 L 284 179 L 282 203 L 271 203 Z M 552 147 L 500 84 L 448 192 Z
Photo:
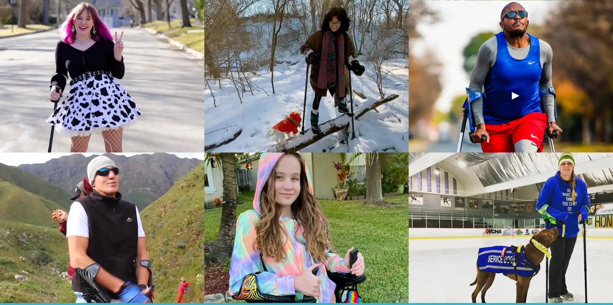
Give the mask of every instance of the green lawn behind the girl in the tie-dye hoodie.
M 253 195 L 242 194 L 240 213 L 253 209 Z M 332 232 L 332 249 L 345 256 L 350 247 L 365 259 L 367 281 L 360 284 L 363 302 L 408 302 L 408 195 L 385 198 L 393 208 L 367 206 L 364 200 L 319 200 Z M 242 200 L 239 200 L 242 201 Z M 217 238 L 221 208 L 205 211 L 205 241 Z

